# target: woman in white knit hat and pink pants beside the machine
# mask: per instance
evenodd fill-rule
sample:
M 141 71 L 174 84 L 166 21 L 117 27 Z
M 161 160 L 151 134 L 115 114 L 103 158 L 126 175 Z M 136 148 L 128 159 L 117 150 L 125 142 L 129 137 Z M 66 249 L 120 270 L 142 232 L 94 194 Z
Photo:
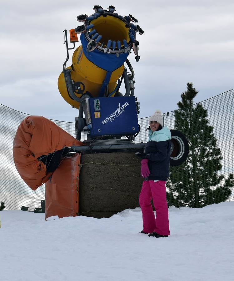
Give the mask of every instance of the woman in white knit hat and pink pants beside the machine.
M 139 197 L 143 219 L 143 230 L 140 233 L 157 238 L 168 237 L 170 230 L 165 185 L 169 177 L 171 132 L 167 127 L 163 127 L 160 111 L 150 116 L 147 130 L 149 141 L 145 145 L 144 153 L 138 153 L 142 158 L 141 174 L 145 178 Z

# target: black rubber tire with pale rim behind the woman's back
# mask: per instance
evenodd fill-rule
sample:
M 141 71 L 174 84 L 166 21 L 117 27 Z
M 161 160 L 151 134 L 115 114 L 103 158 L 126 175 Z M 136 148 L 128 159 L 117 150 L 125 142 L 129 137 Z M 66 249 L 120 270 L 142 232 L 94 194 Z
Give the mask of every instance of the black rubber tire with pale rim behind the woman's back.
M 171 161 L 170 166 L 181 165 L 188 157 L 188 141 L 182 132 L 171 131 Z

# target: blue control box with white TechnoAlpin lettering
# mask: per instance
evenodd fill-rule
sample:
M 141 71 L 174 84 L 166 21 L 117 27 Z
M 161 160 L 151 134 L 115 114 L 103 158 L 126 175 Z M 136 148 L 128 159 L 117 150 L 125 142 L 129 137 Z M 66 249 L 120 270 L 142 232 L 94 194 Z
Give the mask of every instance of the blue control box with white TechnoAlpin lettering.
M 134 96 L 89 98 L 82 105 L 88 136 L 129 136 L 139 131 Z

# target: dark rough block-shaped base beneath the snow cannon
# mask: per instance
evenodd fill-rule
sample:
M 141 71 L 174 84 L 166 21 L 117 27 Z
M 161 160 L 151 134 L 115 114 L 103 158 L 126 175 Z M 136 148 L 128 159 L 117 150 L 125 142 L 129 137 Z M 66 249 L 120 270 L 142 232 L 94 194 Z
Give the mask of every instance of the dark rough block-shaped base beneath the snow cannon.
M 81 164 L 80 215 L 109 218 L 139 207 L 143 178 L 141 159 L 134 152 L 85 154 Z

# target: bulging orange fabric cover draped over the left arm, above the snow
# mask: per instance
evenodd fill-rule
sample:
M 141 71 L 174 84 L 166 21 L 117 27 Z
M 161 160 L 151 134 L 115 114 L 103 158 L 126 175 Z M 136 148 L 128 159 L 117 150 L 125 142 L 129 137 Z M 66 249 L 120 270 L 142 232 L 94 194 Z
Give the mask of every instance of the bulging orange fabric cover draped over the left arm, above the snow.
M 39 160 L 64 146 L 83 145 L 52 121 L 42 116 L 28 116 L 19 125 L 13 141 L 16 169 L 25 183 L 36 190 L 52 175 Z

